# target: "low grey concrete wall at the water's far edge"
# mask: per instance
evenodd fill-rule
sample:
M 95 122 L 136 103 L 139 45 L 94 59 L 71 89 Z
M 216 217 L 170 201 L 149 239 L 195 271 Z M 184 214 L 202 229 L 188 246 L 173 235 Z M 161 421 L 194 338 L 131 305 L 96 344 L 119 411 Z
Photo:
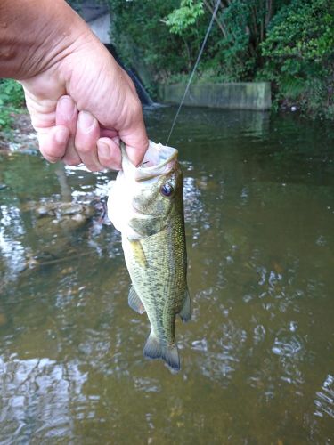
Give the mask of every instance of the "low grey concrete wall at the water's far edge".
M 185 85 L 159 85 L 159 100 L 179 104 Z M 269 82 L 238 82 L 226 84 L 191 85 L 184 105 L 219 109 L 265 110 L 272 106 Z

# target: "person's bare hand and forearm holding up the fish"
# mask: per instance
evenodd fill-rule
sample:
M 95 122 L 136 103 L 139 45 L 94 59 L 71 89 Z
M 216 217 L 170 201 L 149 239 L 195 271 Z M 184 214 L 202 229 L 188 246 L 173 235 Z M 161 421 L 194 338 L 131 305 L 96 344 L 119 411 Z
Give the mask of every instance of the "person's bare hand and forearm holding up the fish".
M 50 162 L 120 168 L 148 147 L 134 84 L 63 0 L 0 0 L 0 77 L 23 85 L 39 148 Z

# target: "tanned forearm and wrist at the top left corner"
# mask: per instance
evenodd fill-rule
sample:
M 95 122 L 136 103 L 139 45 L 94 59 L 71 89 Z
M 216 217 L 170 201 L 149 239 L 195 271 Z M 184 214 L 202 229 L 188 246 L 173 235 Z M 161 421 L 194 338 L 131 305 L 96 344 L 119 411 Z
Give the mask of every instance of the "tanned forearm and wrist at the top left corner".
M 64 0 L 0 0 L 0 77 L 33 77 L 86 34 L 86 23 Z

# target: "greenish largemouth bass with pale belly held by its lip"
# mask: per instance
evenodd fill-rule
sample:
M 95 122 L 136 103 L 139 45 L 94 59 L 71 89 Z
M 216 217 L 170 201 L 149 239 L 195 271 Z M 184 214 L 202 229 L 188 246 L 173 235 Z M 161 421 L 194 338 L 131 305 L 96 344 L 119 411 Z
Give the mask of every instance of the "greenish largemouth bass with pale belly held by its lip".
M 191 320 L 183 215 L 183 174 L 178 150 L 150 141 L 136 167 L 120 142 L 122 170 L 108 197 L 108 217 L 122 234 L 132 280 L 128 304 L 146 312 L 151 333 L 143 348 L 150 359 L 180 370 L 175 318 Z

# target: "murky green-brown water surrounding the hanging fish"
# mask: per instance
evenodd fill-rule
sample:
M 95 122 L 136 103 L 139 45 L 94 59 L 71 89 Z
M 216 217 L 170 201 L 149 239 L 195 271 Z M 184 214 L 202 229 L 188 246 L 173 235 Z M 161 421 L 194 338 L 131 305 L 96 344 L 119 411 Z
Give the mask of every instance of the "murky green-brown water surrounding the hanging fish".
M 174 114 L 147 112 L 153 140 Z M 0 443 L 333 443 L 333 134 L 183 109 L 194 314 L 176 326 L 176 376 L 143 359 L 149 323 L 99 211 L 115 174 L 0 155 Z M 97 214 L 41 217 L 71 197 Z

